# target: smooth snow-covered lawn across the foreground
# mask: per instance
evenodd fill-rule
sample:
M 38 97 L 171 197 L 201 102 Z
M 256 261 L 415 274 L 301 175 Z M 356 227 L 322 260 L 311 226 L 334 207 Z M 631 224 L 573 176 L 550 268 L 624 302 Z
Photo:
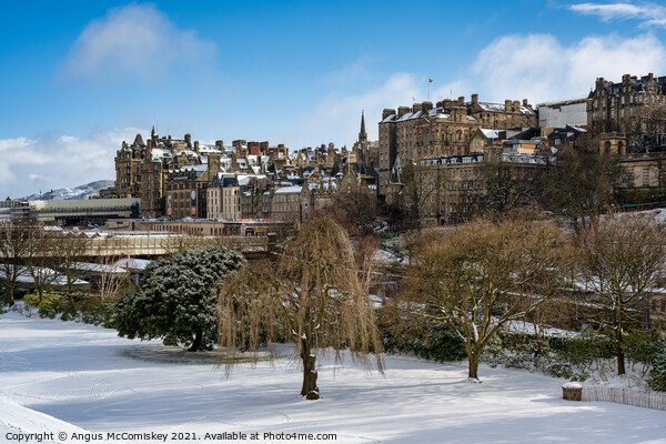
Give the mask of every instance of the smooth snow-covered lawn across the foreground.
M 312 402 L 299 396 L 301 373 L 287 359 L 239 367 L 225 380 L 210 364 L 128 355 L 138 347 L 162 345 L 74 322 L 0 315 L 0 442 L 29 433 L 56 443 L 155 433 L 200 443 L 666 443 L 666 412 L 563 401 L 564 380 L 522 371 L 482 366 L 483 383 L 473 384 L 464 365 L 410 357 L 387 357 L 385 376 L 352 362 L 324 364 L 322 400 Z M 234 432 L 246 436 L 205 438 Z M 162 442 L 127 434 L 113 442 Z

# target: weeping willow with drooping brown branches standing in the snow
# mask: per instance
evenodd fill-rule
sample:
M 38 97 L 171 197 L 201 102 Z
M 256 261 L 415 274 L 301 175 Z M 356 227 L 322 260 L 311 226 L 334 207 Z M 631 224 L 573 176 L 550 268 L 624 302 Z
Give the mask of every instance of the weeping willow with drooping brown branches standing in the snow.
M 238 353 L 254 359 L 275 342 L 279 326 L 296 345 L 303 365 L 301 395 L 317 400 L 317 354 L 333 349 L 335 362 L 349 349 L 354 360 L 383 372 L 380 334 L 346 232 L 330 216 L 303 224 L 279 263 L 246 264 L 219 299 L 221 361 L 226 375 Z

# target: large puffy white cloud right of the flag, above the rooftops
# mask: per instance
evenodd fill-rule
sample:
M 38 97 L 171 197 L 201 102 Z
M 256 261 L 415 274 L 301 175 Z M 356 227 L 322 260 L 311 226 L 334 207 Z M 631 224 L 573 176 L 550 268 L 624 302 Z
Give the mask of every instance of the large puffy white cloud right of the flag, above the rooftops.
M 666 71 L 666 48 L 654 36 L 586 37 L 565 46 L 551 34 L 505 36 L 484 48 L 472 67 L 474 82 L 494 101 L 531 103 L 585 95 L 597 77 Z M 480 88 L 481 90 L 481 88 Z

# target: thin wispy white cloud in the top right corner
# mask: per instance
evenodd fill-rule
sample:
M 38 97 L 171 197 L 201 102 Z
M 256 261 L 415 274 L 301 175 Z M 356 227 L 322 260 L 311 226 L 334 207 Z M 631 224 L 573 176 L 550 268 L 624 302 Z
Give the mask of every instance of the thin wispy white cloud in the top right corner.
M 597 16 L 602 21 L 640 20 L 644 27 L 666 27 L 666 8 L 655 3 L 579 3 L 569 7 L 572 11 Z

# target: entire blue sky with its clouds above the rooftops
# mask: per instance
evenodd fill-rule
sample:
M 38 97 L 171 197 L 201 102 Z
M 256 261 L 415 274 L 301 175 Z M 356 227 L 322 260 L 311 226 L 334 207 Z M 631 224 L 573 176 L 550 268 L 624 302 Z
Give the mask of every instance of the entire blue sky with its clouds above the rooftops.
M 552 1 L 23 1 L 0 17 L 0 196 L 114 179 L 159 132 L 351 147 L 361 110 L 531 103 L 666 75 L 666 7 Z

